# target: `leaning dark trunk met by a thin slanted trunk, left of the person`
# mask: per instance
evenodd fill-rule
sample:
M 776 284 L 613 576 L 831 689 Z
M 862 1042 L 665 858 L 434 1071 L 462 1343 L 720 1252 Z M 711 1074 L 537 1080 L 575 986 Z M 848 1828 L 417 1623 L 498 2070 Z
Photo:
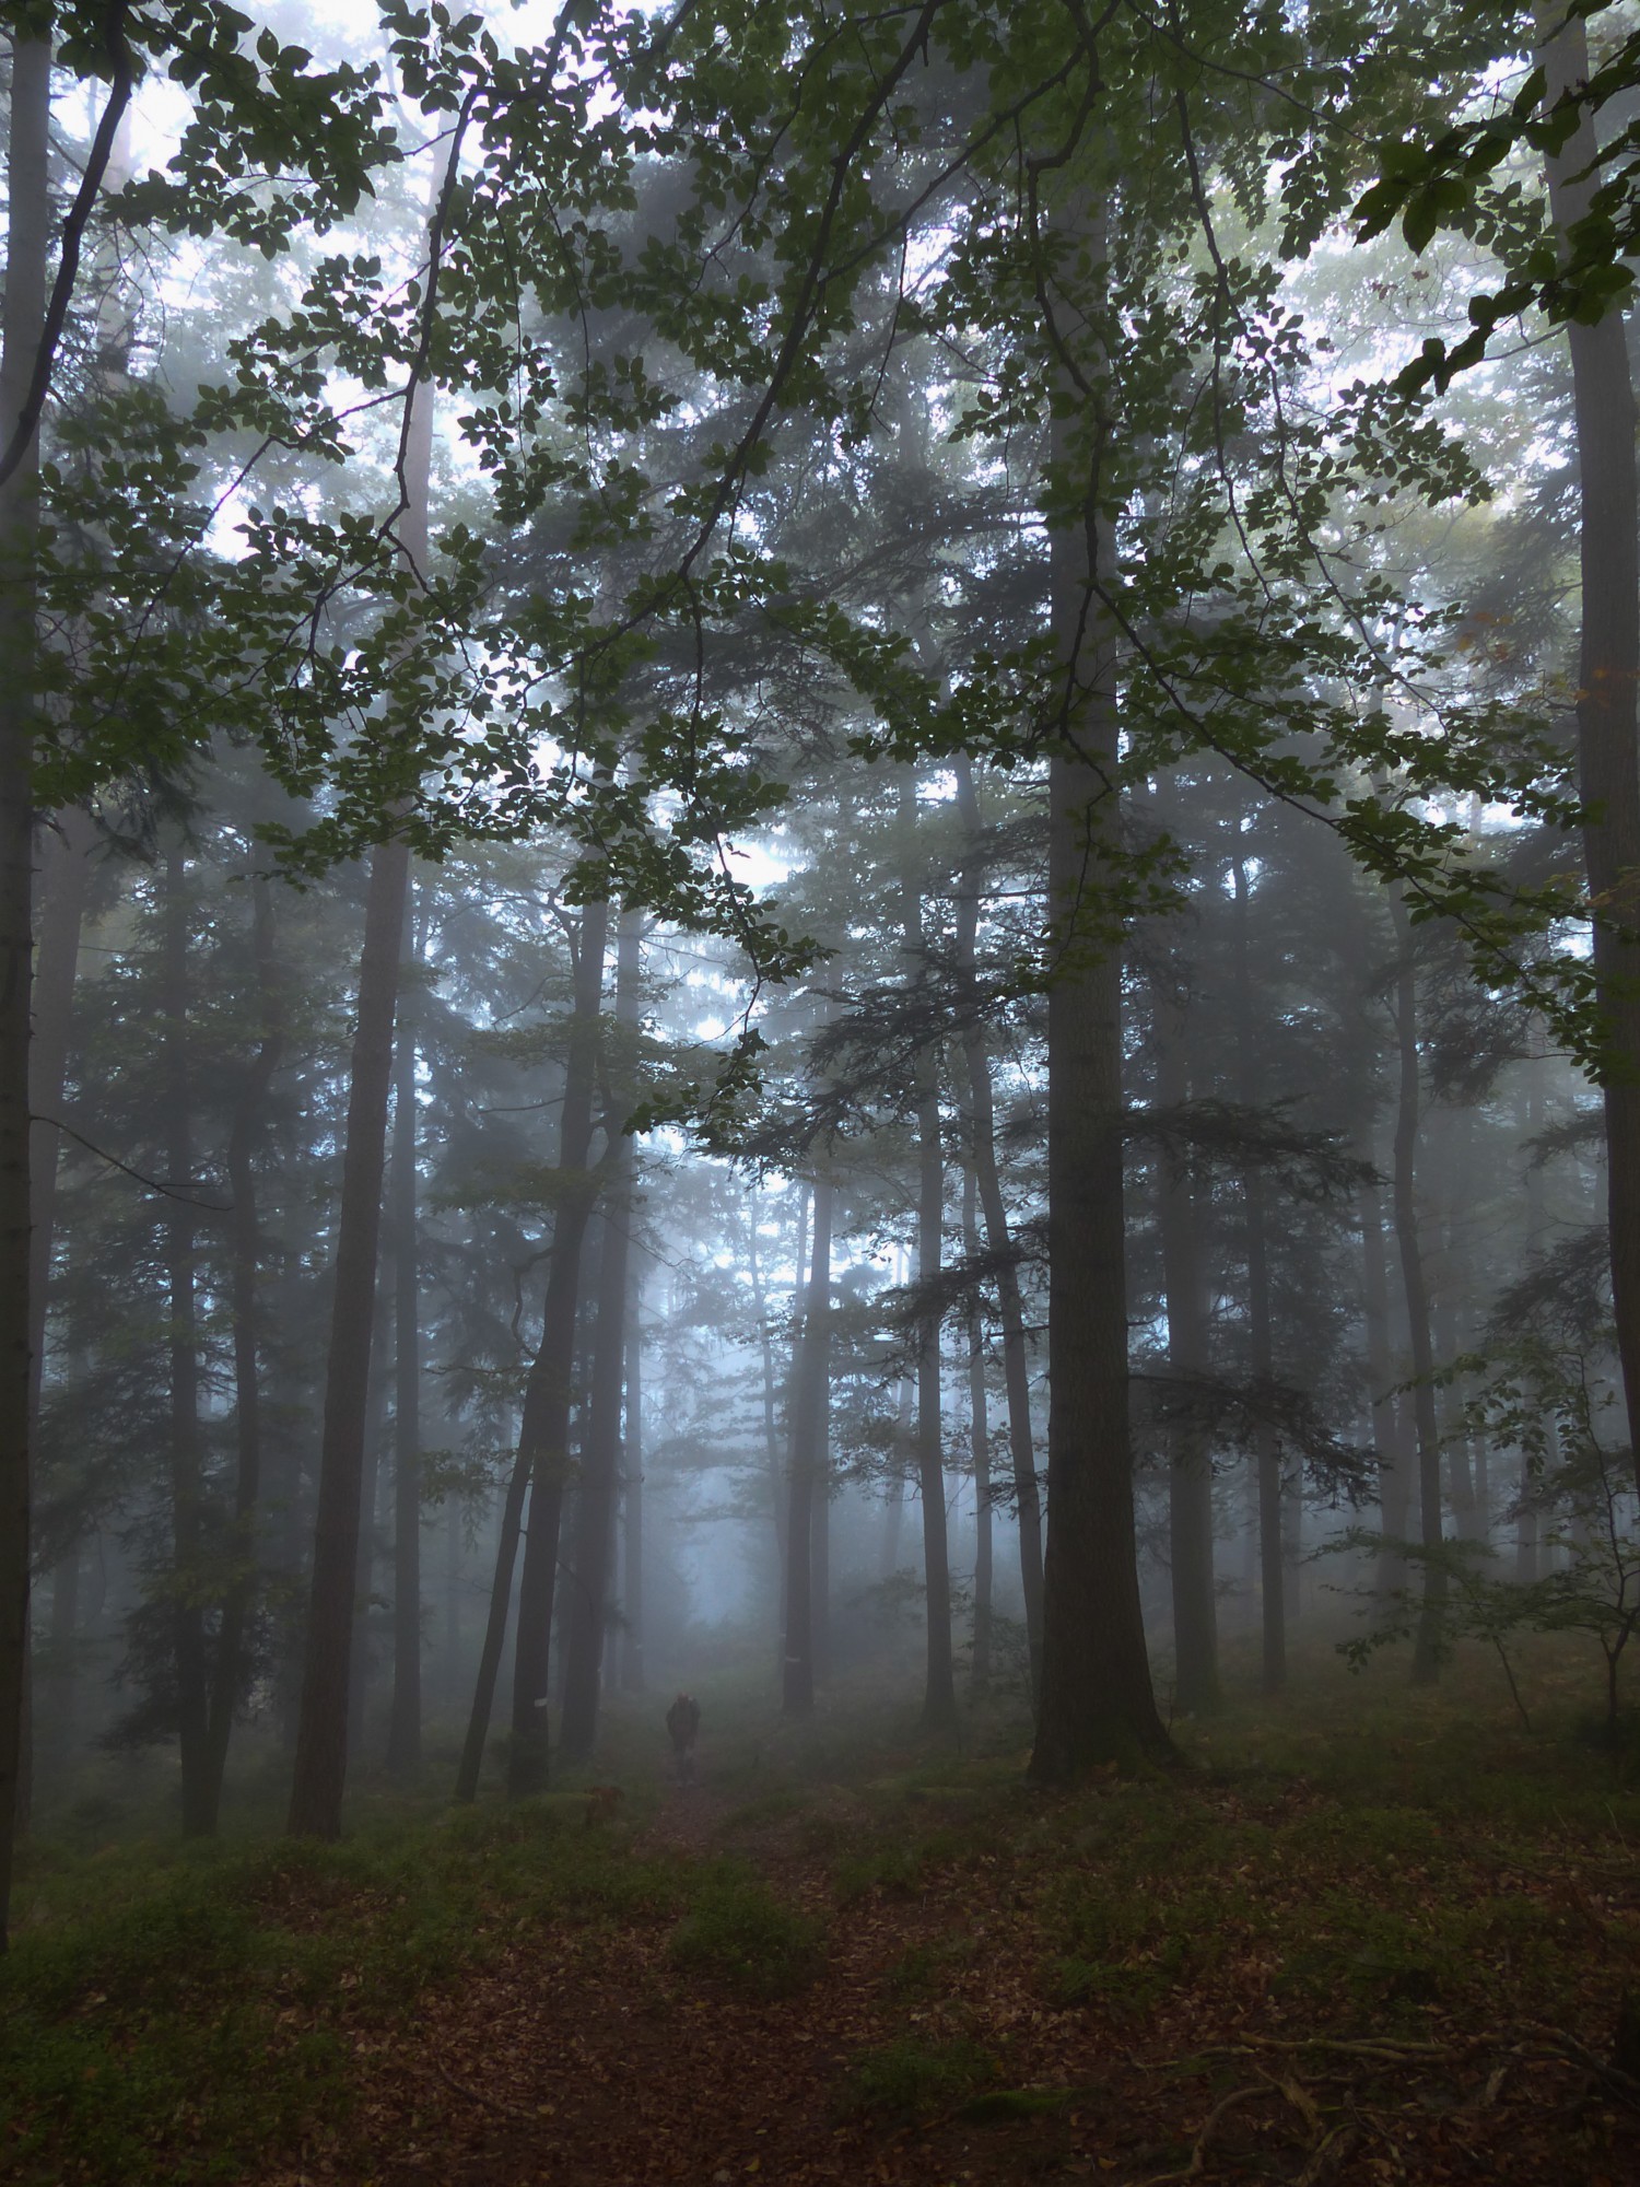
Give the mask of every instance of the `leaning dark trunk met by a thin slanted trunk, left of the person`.
M 588 1159 L 593 1153 L 593 1096 L 597 1089 L 599 1004 L 604 995 L 608 934 L 608 903 L 588 903 L 582 912 L 575 1010 L 571 1015 L 564 1107 L 560 1111 L 558 1163 L 562 1196 L 553 1218 L 553 1258 L 547 1271 L 540 1347 L 529 1369 L 525 1408 L 518 1422 L 518 1463 L 529 1478 L 529 1529 L 525 1533 L 525 1568 L 518 1581 L 518 1638 L 512 1660 L 507 1791 L 514 1796 L 540 1791 L 547 1782 L 547 1673 L 551 1669 L 553 1599 L 558 1592 L 558 1535 L 564 1518 L 564 1483 L 569 1478 L 575 1308 L 582 1293 L 582 1247 L 597 1192 Z M 492 1616 L 494 1610 L 496 1603 L 492 1597 Z M 501 1614 L 505 1618 L 505 1594 L 501 1597 Z M 472 1730 L 468 1732 L 470 1739 Z M 479 1741 L 479 1750 L 481 1745 L 483 1741 Z M 477 1756 L 472 1756 L 472 1767 L 477 1782 Z

